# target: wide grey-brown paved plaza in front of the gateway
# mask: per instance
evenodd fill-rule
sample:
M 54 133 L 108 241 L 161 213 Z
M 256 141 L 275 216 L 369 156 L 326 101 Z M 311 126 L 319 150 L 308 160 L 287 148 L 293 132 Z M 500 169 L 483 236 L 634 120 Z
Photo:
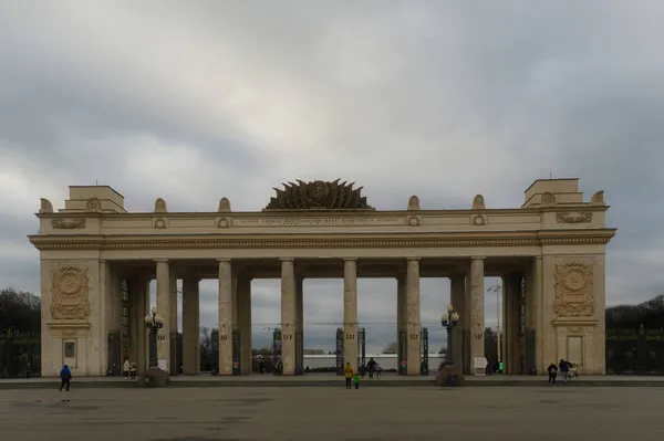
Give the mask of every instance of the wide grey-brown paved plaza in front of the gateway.
M 3 440 L 664 439 L 660 388 L 0 390 Z

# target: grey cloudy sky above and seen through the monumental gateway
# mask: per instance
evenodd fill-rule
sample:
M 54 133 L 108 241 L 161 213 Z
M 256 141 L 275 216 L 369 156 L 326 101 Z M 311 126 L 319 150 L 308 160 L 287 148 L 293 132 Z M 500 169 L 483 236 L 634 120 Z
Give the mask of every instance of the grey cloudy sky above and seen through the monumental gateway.
M 69 185 L 111 185 L 132 211 L 259 210 L 294 178 L 356 181 L 378 209 L 502 208 L 552 174 L 612 206 L 608 303 L 647 300 L 664 291 L 662 22 L 657 0 L 2 1 L 0 284 L 39 291 L 25 235 Z M 448 285 L 422 283 L 432 346 Z M 304 288 L 307 346 L 332 347 L 342 281 Z M 377 350 L 396 283 L 359 288 Z M 279 282 L 253 292 L 261 345 Z

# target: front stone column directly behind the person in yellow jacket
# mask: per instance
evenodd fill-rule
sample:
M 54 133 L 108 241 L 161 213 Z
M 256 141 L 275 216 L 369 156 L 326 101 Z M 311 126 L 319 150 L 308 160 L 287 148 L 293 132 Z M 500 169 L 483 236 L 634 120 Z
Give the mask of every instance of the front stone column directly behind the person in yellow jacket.
M 357 260 L 343 260 L 343 361 L 357 371 Z

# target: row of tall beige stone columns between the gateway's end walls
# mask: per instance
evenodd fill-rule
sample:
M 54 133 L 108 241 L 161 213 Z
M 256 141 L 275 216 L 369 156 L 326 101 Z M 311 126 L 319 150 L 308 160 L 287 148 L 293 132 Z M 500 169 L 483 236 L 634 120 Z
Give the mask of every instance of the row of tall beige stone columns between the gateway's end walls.
M 397 282 L 397 342 L 405 335 L 404 354 L 406 374 L 419 375 L 421 364 L 421 301 L 419 279 L 421 260 L 404 259 L 404 272 L 396 274 Z M 239 332 L 239 371 L 250 374 L 251 356 L 251 272 L 238 272 L 234 261 L 219 259 L 218 263 L 218 326 L 219 326 L 219 359 L 220 375 L 234 372 L 234 330 Z M 165 360 L 169 368 L 176 368 L 177 347 L 177 280 L 172 262 L 156 260 L 156 297 L 157 311 L 164 318 L 164 327 L 159 330 L 157 340 L 157 357 Z M 504 361 L 506 371 L 521 374 L 525 365 L 525 333 L 535 329 L 538 321 L 535 312 L 538 308 L 533 290 L 525 294 L 523 281 L 537 274 L 537 262 L 532 267 L 522 272 L 502 275 L 502 336 Z M 183 367 L 184 372 L 196 375 L 200 372 L 200 339 L 199 339 L 199 275 L 181 275 L 183 286 Z M 191 274 L 196 274 L 193 272 Z M 298 272 L 294 259 L 280 260 L 281 279 L 281 360 L 283 375 L 294 375 L 297 368 L 302 368 L 302 355 L 298 354 L 298 335 L 303 334 L 303 279 L 305 274 Z M 530 275 L 530 277 L 529 277 Z M 357 260 L 343 260 L 343 359 L 354 369 L 357 368 Z M 454 273 L 450 280 L 450 303 L 459 313 L 459 325 L 453 333 L 453 356 L 457 364 L 463 364 L 466 372 L 470 372 L 473 359 L 485 356 L 485 259 L 471 258 L 466 271 Z M 535 286 L 535 284 L 531 284 Z M 526 298 L 528 297 L 528 298 Z M 137 301 L 138 319 L 146 309 L 145 300 Z M 149 305 L 149 301 L 147 302 Z M 443 312 L 443 311 L 440 311 Z M 145 312 L 147 313 L 147 312 Z M 139 333 L 138 333 L 139 334 Z M 144 355 L 148 347 L 144 338 L 135 345 L 139 365 L 147 363 Z M 532 350 L 535 350 L 532 348 Z M 531 350 L 531 351 L 532 351 Z M 143 354 L 141 354 L 143 353 Z M 237 353 L 237 347 L 236 347 Z M 535 355 L 532 355 L 535 363 Z

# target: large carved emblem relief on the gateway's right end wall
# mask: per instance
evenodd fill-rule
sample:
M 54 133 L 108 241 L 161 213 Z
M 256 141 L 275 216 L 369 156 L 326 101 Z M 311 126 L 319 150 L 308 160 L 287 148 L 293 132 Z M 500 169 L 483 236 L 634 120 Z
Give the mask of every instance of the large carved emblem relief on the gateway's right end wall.
M 556 314 L 561 317 L 592 316 L 593 294 L 592 265 L 583 262 L 556 265 Z

